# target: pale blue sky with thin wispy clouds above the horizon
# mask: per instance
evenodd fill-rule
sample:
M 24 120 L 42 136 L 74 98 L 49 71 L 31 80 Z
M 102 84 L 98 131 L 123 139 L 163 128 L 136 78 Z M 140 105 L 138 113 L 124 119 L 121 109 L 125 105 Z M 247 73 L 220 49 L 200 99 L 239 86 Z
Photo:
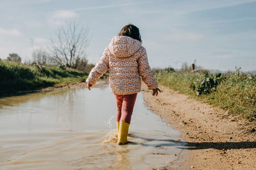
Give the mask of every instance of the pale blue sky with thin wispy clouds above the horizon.
M 45 48 L 67 22 L 88 27 L 87 59 L 95 64 L 129 23 L 140 29 L 151 67 L 182 63 L 205 69 L 256 70 L 256 0 L 0 0 L 0 58 L 22 61 Z

